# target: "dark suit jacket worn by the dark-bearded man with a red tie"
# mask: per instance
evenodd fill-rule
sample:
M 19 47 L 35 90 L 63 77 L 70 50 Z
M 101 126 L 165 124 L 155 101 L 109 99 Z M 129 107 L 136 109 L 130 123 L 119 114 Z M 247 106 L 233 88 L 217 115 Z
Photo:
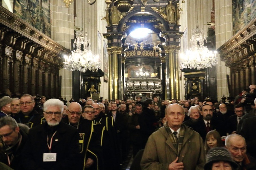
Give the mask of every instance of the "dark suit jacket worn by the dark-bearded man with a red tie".
M 200 134 L 200 136 L 203 138 L 203 141 L 205 140 L 207 131 L 206 131 L 206 125 L 203 121 L 203 119 L 198 120 L 196 123 L 193 124 L 192 127 L 196 132 Z M 225 129 L 224 129 L 224 122 L 220 120 L 216 120 L 214 118 L 211 119 L 210 122 L 210 128 L 211 130 L 216 130 L 221 136 L 225 136 Z

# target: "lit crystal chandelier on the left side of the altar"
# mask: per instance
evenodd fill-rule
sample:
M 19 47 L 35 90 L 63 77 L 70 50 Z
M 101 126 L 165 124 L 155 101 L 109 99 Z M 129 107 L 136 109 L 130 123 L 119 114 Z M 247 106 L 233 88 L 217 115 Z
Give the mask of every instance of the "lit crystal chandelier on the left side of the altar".
M 81 46 L 83 45 L 83 51 Z M 76 39 L 74 40 L 73 48 L 76 50 L 71 51 L 69 56 L 64 56 L 65 62 L 63 67 L 71 71 L 81 71 L 85 72 L 87 70 L 98 72 L 100 69 L 100 58 L 98 55 L 93 55 L 91 50 L 89 50 L 90 42 L 88 40 L 88 35 L 81 31 L 76 31 Z

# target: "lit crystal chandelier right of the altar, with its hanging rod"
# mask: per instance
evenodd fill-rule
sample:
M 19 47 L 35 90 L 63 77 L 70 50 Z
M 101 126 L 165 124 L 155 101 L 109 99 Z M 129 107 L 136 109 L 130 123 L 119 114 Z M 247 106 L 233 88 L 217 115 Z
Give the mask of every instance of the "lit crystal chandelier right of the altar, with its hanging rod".
M 197 6 L 197 3 L 196 3 Z M 196 17 L 197 7 L 196 7 Z M 198 19 L 197 19 L 198 22 Z M 185 54 L 180 55 L 180 68 L 196 68 L 198 70 L 207 67 L 216 66 L 217 64 L 217 51 L 210 51 L 204 46 L 204 41 L 207 41 L 203 34 L 203 29 L 199 28 L 198 23 L 193 29 L 190 39 L 191 48 L 186 50 Z

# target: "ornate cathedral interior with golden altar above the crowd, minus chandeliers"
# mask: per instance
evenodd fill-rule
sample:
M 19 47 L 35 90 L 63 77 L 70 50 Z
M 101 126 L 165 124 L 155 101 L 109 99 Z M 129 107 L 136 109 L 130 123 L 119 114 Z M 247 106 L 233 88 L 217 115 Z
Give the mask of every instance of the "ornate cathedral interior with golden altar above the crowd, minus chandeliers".
M 161 100 L 237 96 L 255 84 L 256 18 L 248 0 L 1 0 L 0 94 Z M 216 63 L 182 68 L 191 30 Z M 97 71 L 65 69 L 77 31 L 99 55 Z M 83 46 L 86 47 L 86 46 Z M 189 59 L 187 59 L 189 60 Z

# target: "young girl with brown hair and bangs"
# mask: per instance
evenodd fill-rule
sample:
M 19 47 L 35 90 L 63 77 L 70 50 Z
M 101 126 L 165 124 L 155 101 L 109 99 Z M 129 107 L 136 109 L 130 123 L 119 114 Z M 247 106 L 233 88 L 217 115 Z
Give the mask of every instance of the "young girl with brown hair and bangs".
M 205 153 L 207 153 L 210 149 L 216 147 L 223 147 L 223 143 L 221 140 L 221 135 L 217 131 L 210 131 L 207 133 L 204 142 Z

